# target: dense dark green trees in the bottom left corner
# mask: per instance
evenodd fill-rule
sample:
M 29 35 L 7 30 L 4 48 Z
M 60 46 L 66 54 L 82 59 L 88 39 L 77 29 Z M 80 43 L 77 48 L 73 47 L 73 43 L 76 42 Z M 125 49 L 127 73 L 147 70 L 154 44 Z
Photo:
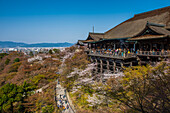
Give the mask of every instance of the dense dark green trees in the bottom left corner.
M 5 84 L 0 88 L 0 111 L 13 112 L 23 109 L 23 99 L 27 97 L 35 87 L 24 82 L 23 85 L 17 86 L 15 84 Z

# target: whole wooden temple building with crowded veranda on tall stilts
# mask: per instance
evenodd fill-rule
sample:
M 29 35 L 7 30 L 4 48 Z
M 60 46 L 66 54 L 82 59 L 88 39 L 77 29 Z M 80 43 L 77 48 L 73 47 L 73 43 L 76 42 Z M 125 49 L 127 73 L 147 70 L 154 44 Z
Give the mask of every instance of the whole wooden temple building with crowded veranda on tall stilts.
M 137 14 L 105 33 L 89 33 L 87 47 L 96 72 L 117 73 L 123 67 L 154 65 L 170 57 L 170 6 Z

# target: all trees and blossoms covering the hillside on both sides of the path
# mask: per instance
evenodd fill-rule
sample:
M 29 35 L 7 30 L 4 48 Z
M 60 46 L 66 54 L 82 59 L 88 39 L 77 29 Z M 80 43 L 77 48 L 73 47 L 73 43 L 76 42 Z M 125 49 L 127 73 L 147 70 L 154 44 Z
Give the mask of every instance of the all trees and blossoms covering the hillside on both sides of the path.
M 93 74 L 84 48 L 70 47 L 39 54 L 28 62 L 22 53 L 0 54 L 1 112 L 59 112 L 56 80 L 67 89 L 78 113 L 170 112 L 170 63 L 125 68 L 103 81 Z M 43 87 L 45 87 L 43 90 Z

